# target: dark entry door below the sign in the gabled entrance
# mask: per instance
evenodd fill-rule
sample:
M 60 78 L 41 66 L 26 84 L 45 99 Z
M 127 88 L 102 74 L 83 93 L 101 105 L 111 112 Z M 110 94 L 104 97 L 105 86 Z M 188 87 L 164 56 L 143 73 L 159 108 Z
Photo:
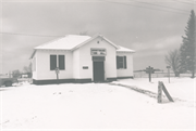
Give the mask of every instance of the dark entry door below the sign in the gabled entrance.
M 94 62 L 94 81 L 105 81 L 105 66 L 103 62 Z

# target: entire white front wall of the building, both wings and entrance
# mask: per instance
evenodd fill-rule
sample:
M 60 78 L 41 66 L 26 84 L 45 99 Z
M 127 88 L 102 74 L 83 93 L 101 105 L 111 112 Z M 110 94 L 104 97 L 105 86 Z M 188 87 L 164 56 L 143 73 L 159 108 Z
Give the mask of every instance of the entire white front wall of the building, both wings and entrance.
M 99 41 L 99 43 L 97 43 Z M 65 56 L 65 70 L 60 70 L 59 79 L 91 79 L 94 81 L 93 60 L 90 49 L 106 49 L 105 80 L 107 78 L 133 77 L 133 53 L 117 52 L 117 49 L 101 37 L 89 41 L 81 48 L 72 51 L 37 50 L 36 70 L 33 71 L 35 80 L 57 79 L 54 70 L 50 70 L 50 55 Z M 126 69 L 117 69 L 117 55 L 126 56 Z M 83 69 L 87 66 L 88 69 Z

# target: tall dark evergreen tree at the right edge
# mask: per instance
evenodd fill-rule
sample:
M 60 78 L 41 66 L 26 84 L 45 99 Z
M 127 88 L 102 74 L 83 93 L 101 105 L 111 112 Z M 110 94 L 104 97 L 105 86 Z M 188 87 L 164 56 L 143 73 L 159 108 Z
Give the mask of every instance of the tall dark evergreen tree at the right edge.
M 195 49 L 196 49 L 196 18 L 195 13 L 192 10 L 189 19 L 187 22 L 187 27 L 185 27 L 185 37 L 183 38 L 183 43 L 181 45 L 180 52 L 181 52 L 181 71 L 192 71 L 192 77 L 195 77 L 195 70 L 196 70 L 196 55 L 195 55 Z

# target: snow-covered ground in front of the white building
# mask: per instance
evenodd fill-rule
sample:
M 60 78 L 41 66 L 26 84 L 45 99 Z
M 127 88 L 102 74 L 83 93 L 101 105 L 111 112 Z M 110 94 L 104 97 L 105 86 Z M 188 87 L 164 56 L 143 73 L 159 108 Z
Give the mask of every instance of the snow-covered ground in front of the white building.
M 64 83 L 0 88 L 1 131 L 176 130 L 195 131 L 196 79 L 123 79 L 111 83 Z M 174 103 L 158 104 L 156 97 L 131 86 L 157 93 L 163 81 Z

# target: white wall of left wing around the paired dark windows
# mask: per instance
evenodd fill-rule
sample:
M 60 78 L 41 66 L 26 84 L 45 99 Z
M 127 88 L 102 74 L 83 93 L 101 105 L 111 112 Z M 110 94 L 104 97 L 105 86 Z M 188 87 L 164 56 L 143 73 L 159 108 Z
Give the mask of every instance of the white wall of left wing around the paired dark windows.
M 50 55 L 64 55 L 65 57 L 65 70 L 60 70 L 59 79 L 71 79 L 73 78 L 73 56 L 71 51 L 45 51 L 37 50 L 36 52 L 36 80 L 57 79 L 54 70 L 50 70 Z

